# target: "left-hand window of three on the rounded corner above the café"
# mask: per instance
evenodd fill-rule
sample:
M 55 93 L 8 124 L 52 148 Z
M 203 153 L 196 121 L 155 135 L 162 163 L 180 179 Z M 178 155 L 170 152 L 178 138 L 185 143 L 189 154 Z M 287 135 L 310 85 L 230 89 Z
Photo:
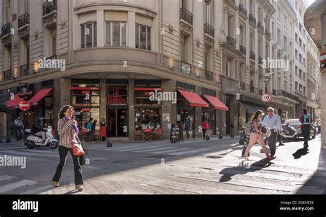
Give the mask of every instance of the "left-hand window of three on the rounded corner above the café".
M 80 27 L 81 47 L 96 47 L 96 23 L 89 22 L 82 24 Z

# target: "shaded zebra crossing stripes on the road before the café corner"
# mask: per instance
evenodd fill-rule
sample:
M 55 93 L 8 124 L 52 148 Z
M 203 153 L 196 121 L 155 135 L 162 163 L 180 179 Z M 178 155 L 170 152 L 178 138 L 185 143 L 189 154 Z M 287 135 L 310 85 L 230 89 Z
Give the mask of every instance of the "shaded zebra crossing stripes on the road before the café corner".
M 135 152 L 135 153 L 149 153 L 155 155 L 193 155 L 200 154 L 201 152 L 205 152 L 209 150 L 208 148 L 190 148 L 190 147 L 175 147 L 175 146 L 166 146 L 166 147 L 158 147 L 158 146 L 126 146 L 126 147 L 118 147 L 118 148 L 108 148 L 107 151 L 112 152 Z

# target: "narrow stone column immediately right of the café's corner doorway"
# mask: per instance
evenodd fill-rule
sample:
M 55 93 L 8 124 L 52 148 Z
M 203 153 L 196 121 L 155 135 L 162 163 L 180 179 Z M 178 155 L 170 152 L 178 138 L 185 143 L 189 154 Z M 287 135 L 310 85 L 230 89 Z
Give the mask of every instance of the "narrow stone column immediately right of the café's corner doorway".
M 135 80 L 129 79 L 128 82 L 128 135 L 129 140 L 135 140 L 135 94 L 133 91 Z

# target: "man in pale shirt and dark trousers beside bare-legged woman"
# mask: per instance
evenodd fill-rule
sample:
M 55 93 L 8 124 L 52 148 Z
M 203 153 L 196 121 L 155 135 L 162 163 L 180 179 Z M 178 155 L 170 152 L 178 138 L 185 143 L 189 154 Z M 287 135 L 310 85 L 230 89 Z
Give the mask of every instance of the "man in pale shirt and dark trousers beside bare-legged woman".
M 269 107 L 267 114 L 263 119 L 263 126 L 266 126 L 272 130 L 272 135 L 266 139 L 268 146 L 270 147 L 270 156 L 273 158 L 276 152 L 276 139 L 277 134 L 282 133 L 282 124 L 279 115 L 274 114 L 274 109 Z

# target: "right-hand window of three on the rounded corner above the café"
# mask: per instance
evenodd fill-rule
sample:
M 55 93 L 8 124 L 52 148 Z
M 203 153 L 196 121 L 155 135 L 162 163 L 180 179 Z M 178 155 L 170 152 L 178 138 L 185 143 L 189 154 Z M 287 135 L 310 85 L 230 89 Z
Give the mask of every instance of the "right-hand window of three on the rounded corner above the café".
M 135 47 L 151 50 L 151 27 L 135 25 Z

